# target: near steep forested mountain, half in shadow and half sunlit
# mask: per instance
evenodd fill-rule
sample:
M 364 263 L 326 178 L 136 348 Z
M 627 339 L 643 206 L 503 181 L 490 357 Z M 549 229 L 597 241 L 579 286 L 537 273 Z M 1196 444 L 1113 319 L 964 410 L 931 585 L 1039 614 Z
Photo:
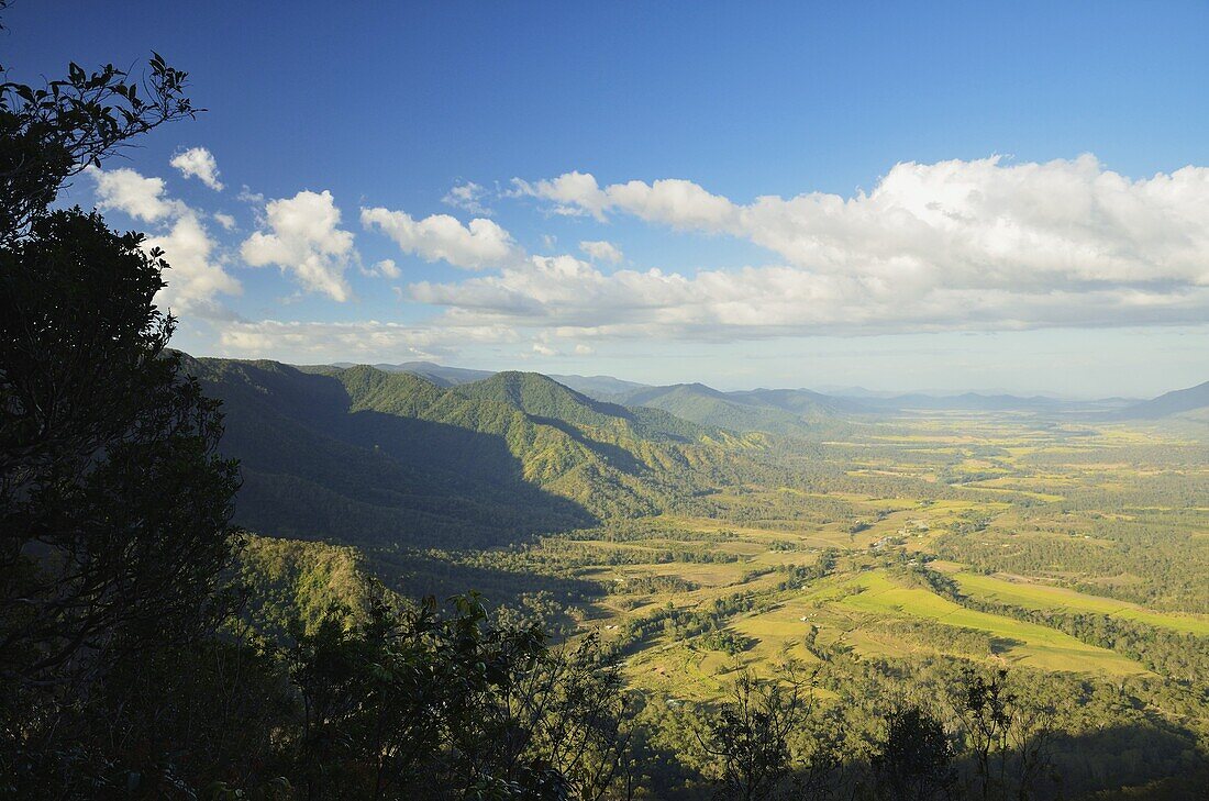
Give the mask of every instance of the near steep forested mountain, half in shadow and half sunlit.
M 730 435 L 542 376 L 446 389 L 368 366 L 190 364 L 224 401 L 221 448 L 244 475 L 237 521 L 278 536 L 505 542 L 654 513 L 744 464 L 727 458 L 741 445 Z

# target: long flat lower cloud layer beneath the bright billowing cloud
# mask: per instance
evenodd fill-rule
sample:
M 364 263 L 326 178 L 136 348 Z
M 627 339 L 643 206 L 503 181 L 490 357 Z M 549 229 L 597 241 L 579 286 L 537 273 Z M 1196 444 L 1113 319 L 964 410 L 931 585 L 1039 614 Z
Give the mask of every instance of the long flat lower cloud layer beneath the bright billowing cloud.
M 604 274 L 571 256 L 461 283 L 417 283 L 412 300 L 444 306 L 461 325 L 554 327 L 560 336 L 735 339 L 901 331 L 1010 330 L 1197 323 L 1209 286 L 1111 286 L 1018 291 L 899 285 L 878 277 L 793 266 L 700 271 L 620 269 Z

